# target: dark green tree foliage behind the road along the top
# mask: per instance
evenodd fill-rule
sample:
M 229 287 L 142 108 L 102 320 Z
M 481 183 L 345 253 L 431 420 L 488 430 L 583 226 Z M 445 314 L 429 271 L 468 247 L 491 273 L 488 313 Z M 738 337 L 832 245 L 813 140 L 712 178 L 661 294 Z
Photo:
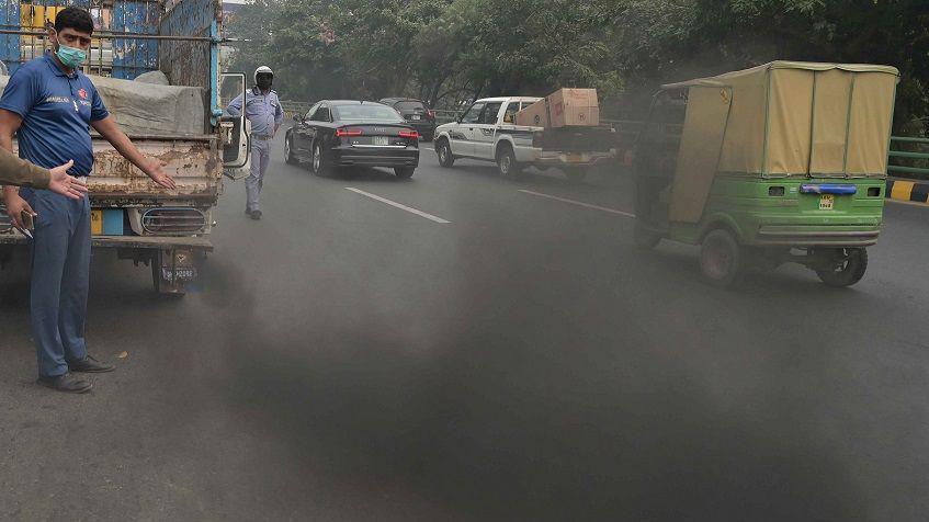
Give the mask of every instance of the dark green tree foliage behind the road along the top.
M 926 0 L 253 0 L 230 29 L 250 39 L 233 67 L 271 66 L 296 100 L 596 87 L 609 104 L 793 59 L 896 66 L 897 126 L 929 114 Z

